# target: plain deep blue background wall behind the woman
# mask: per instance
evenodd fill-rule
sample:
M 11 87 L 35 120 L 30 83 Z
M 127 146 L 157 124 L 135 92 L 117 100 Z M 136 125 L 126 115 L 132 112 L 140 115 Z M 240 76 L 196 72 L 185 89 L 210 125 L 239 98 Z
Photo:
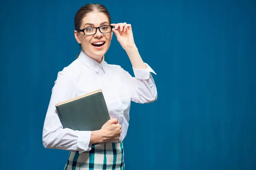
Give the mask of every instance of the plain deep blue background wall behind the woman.
M 158 99 L 131 105 L 127 170 L 256 169 L 256 1 L 12 0 L 0 4 L 0 169 L 62 170 L 42 130 L 58 71 L 79 54 L 76 11 L 102 3 L 131 23 Z M 113 36 L 111 64 L 132 73 Z

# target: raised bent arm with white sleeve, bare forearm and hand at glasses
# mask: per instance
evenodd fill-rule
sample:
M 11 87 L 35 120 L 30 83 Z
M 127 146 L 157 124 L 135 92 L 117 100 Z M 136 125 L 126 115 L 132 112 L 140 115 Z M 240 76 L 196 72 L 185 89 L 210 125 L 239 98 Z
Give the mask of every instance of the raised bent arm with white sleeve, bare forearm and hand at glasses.
M 118 23 L 111 24 L 115 28 L 113 32 L 122 48 L 126 51 L 135 77 L 122 70 L 122 82 L 128 89 L 131 100 L 137 103 L 154 102 L 157 99 L 157 88 L 150 72 L 155 72 L 143 62 L 139 51 L 135 45 L 131 24 Z

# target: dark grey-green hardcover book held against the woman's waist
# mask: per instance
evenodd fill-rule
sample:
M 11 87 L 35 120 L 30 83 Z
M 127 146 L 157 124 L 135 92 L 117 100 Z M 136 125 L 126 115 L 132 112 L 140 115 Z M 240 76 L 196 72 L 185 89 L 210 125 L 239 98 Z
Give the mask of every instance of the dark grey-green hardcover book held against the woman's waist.
M 101 89 L 57 103 L 55 107 L 63 128 L 100 130 L 110 119 Z

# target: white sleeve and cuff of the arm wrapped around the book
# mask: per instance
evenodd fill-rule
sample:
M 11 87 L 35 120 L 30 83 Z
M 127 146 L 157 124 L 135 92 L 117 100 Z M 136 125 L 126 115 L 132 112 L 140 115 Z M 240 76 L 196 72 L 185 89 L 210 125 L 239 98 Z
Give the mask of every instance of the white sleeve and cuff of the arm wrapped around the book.
M 75 90 L 71 75 L 67 68 L 58 73 L 55 85 L 52 88 L 52 96 L 44 121 L 43 145 L 46 148 L 57 148 L 61 150 L 89 151 L 91 149 L 91 131 L 79 131 L 64 128 L 58 117 L 55 104 L 75 97 Z M 72 113 L 71 113 L 72 114 Z

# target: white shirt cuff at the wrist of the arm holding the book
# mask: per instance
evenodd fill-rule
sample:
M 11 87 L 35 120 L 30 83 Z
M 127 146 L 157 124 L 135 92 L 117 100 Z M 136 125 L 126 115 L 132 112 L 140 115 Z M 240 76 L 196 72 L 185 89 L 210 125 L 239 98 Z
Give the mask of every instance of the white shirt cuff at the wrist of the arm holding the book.
M 79 154 L 84 151 L 90 151 L 92 145 L 90 144 L 91 131 L 79 131 L 77 139 L 77 146 L 81 149 Z

